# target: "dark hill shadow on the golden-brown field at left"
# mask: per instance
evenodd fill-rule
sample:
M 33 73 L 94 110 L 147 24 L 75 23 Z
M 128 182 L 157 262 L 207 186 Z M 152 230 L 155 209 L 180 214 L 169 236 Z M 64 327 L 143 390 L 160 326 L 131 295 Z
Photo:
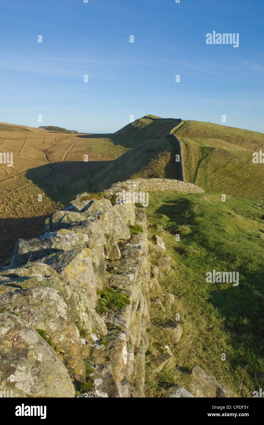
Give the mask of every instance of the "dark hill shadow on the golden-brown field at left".
M 54 211 L 57 203 L 67 205 L 77 193 L 89 190 L 93 174 L 97 173 L 111 161 L 69 161 L 45 164 L 31 168 L 26 177 L 40 188 L 45 195 L 54 201 Z M 30 186 L 28 188 L 30 191 Z M 32 207 L 34 214 L 34 207 Z M 21 215 L 23 211 L 21 212 Z M 13 255 L 14 245 L 18 238 L 38 238 L 44 229 L 45 219 L 51 215 L 39 215 L 26 218 L 0 219 L 0 264 Z

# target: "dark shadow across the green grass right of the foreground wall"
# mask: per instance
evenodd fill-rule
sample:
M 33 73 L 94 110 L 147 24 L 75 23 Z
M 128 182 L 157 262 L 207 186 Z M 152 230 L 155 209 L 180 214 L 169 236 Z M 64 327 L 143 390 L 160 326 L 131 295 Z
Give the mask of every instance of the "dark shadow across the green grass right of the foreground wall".
M 155 213 L 166 215 L 170 219 L 166 230 L 172 235 L 179 231 L 179 229 L 177 231 L 177 226 L 192 225 L 191 232 L 187 234 L 190 244 L 195 242 L 201 248 L 206 247 L 208 252 L 216 252 L 214 246 L 216 241 L 214 241 L 212 235 L 207 235 L 206 239 L 202 237 L 200 240 L 197 237 L 195 230 L 196 216 L 192 216 L 192 211 L 194 211 L 192 201 L 179 198 L 175 201 L 164 201 L 164 204 Z M 225 255 L 227 255 L 226 246 L 223 244 L 221 249 L 225 258 Z M 176 247 L 175 252 L 183 256 L 188 255 L 186 249 L 181 247 Z M 184 257 L 182 261 L 185 261 Z M 227 261 L 231 263 L 232 258 L 227 257 Z M 208 268 L 206 260 L 203 258 L 200 258 L 200 265 L 204 270 Z M 206 271 L 212 272 L 211 269 Z M 217 269 L 217 271 L 233 272 L 235 269 Z M 205 272 L 202 273 L 201 281 L 204 281 L 204 276 Z M 232 347 L 230 347 L 229 353 L 225 353 L 228 362 L 234 369 L 238 365 L 242 368 L 249 365 L 248 372 L 255 378 L 255 374 L 262 371 L 260 356 L 263 357 L 264 355 L 264 269 L 261 267 L 261 269 L 251 270 L 246 261 L 241 261 L 239 277 L 239 285 L 233 286 L 232 283 L 229 283 L 228 289 L 222 289 L 221 283 L 211 283 L 212 289 L 208 293 L 208 303 L 217 310 L 224 329 L 229 334 Z M 239 356 L 234 354 L 233 348 L 240 353 Z M 218 355 L 221 358 L 221 352 Z M 258 370 L 258 368 L 260 369 Z

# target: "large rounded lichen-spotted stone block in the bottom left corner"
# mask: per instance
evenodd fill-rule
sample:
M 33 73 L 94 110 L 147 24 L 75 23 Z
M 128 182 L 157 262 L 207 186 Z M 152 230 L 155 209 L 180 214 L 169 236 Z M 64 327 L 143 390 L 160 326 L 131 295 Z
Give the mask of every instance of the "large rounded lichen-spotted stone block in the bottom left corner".
M 0 390 L 13 397 L 74 397 L 68 371 L 26 320 L 0 314 Z

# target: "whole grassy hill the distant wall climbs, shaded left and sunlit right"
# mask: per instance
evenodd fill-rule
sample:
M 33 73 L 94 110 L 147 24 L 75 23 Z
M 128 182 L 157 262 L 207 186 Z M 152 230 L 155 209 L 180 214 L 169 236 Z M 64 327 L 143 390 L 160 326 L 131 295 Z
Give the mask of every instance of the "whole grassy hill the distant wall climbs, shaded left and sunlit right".
M 178 148 L 167 133 L 182 141 L 186 181 L 207 191 L 244 198 L 263 196 L 264 167 L 253 164 L 252 153 L 264 150 L 264 134 L 210 122 L 162 119 L 146 115 L 111 135 L 111 140 L 132 148 L 102 167 L 90 179 L 90 190 L 103 190 L 129 178 L 180 179 Z

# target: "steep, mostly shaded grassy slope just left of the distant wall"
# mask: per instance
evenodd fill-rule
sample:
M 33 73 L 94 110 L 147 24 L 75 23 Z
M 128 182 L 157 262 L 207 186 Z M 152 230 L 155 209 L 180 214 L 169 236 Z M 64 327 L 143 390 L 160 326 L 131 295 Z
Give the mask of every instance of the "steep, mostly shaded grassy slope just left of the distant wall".
M 100 191 L 128 178 L 179 178 L 179 167 L 175 163 L 178 148 L 166 134 L 180 121 L 148 115 L 111 135 L 114 143 L 130 150 L 102 168 L 99 176 L 94 175 L 88 189 Z

